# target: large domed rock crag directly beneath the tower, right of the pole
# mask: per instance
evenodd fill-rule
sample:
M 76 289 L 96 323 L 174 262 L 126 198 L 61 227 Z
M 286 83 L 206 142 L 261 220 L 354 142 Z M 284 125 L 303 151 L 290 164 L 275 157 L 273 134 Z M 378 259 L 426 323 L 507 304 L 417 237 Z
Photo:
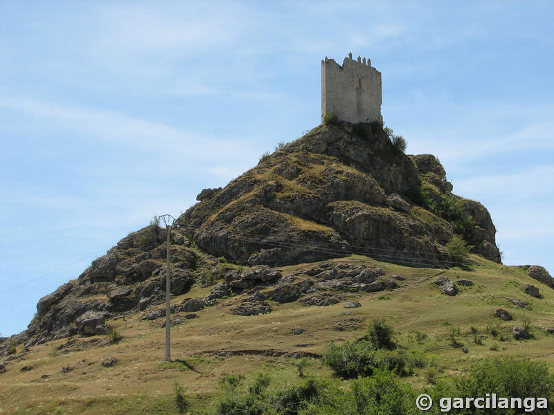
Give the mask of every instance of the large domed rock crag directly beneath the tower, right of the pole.
M 222 190 L 204 190 L 179 221 L 203 249 L 240 264 L 284 266 L 363 252 L 411 266 L 446 266 L 453 227 L 414 208 L 422 182 L 439 199 L 452 191 L 434 156 L 395 151 L 382 129 L 323 125 Z M 499 261 L 490 215 L 458 199 L 475 223 L 467 230 L 475 252 Z

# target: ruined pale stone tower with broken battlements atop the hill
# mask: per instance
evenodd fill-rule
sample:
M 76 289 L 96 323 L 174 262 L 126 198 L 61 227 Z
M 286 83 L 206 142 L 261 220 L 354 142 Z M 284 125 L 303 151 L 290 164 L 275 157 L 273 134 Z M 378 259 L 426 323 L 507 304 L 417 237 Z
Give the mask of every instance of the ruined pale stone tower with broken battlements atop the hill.
M 381 73 L 369 59 L 344 58 L 342 66 L 334 59 L 321 61 L 321 119 L 334 112 L 341 121 L 371 122 L 381 116 Z

